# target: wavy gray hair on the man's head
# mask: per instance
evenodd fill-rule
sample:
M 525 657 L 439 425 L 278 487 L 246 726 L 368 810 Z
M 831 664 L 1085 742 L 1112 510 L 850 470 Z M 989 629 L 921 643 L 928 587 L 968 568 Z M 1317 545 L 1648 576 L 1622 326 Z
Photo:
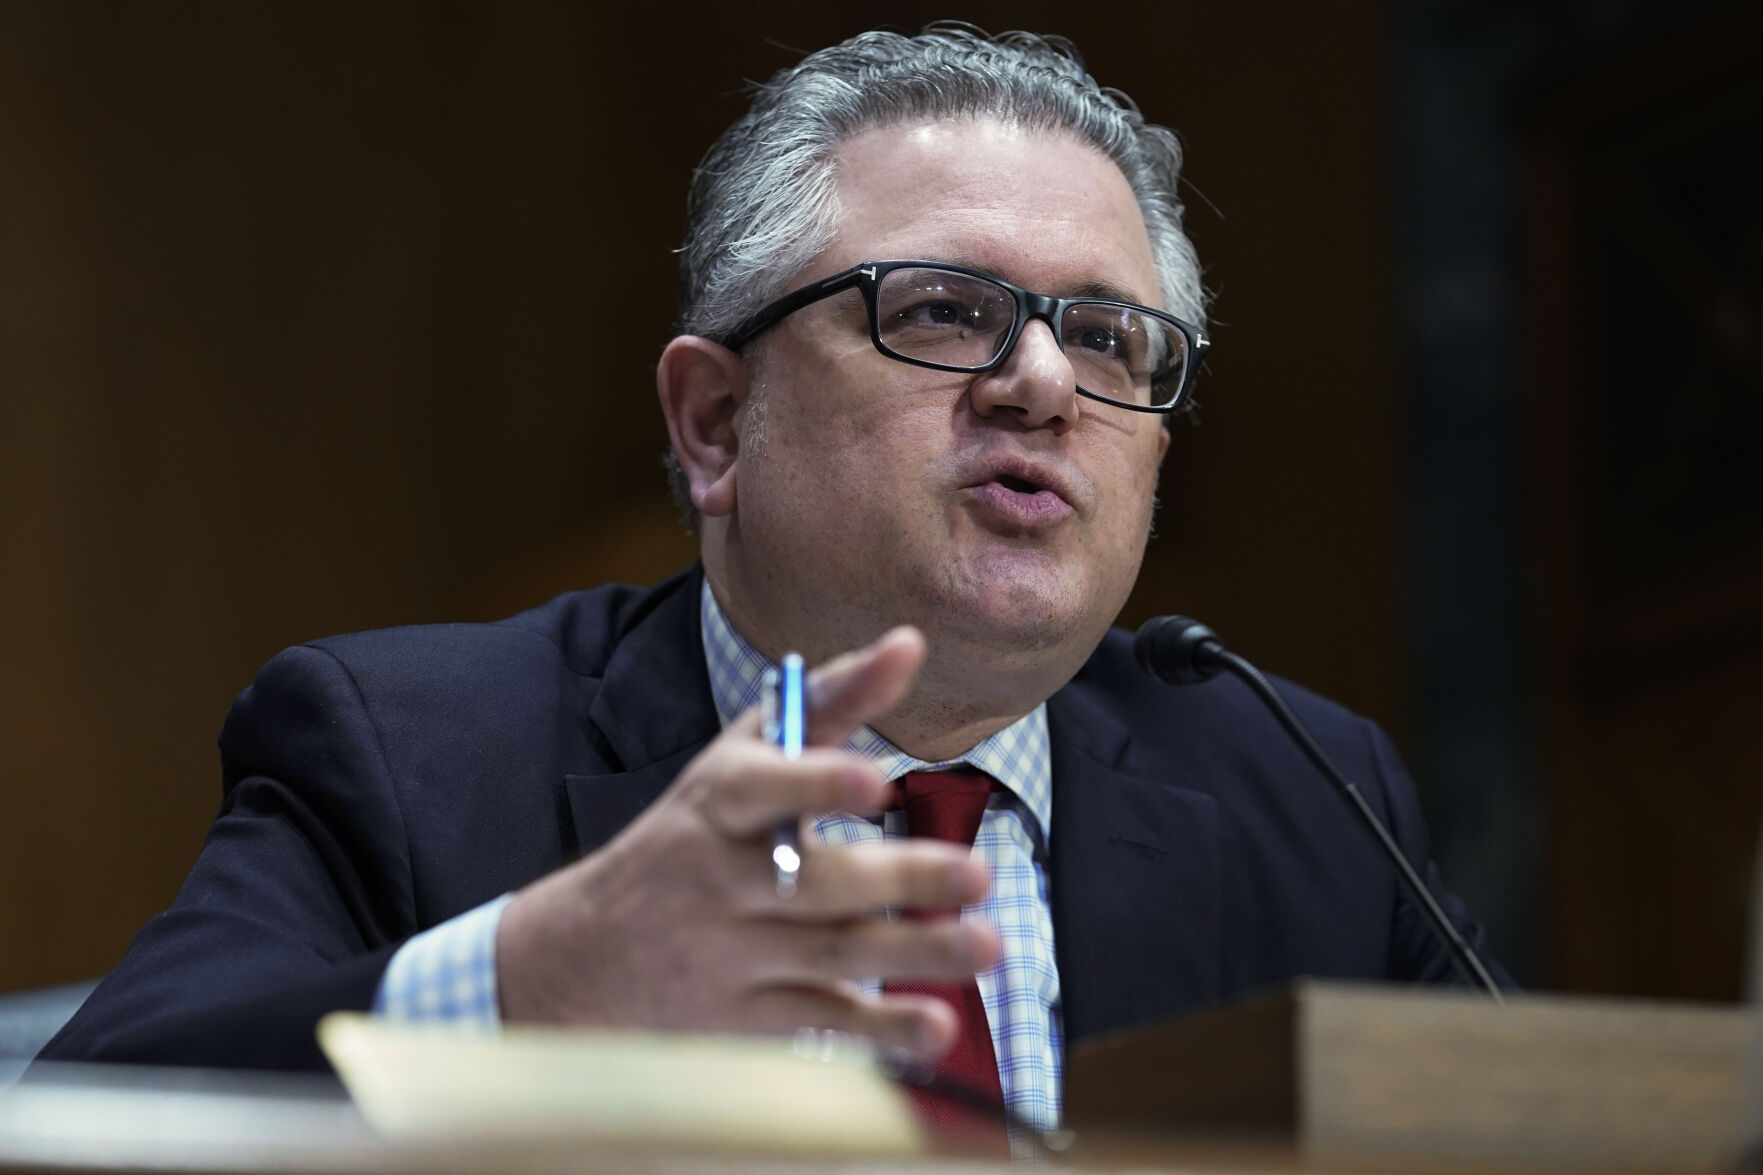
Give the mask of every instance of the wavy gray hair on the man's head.
M 917 37 L 866 32 L 777 71 L 748 113 L 710 145 L 686 205 L 679 266 L 679 333 L 726 339 L 785 293 L 837 231 L 836 152 L 876 127 L 943 118 L 996 118 L 1065 131 L 1114 161 L 1139 201 L 1164 307 L 1202 323 L 1194 243 L 1181 231 L 1181 143 L 1137 104 L 1086 72 L 1063 37 L 991 37 L 957 23 Z M 677 457 L 663 459 L 688 526 L 696 510 Z

